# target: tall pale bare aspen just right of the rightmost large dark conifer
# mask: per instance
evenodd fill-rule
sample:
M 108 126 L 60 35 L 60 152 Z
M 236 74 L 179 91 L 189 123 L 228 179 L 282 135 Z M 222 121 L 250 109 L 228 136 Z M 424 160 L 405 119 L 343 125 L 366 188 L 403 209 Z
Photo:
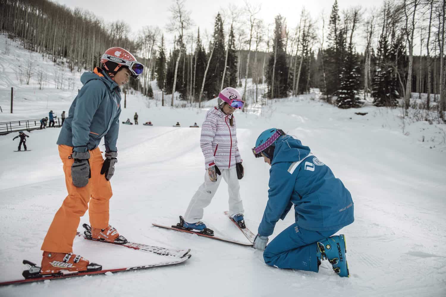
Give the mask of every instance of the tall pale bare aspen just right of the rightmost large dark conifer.
M 406 3 L 406 0 L 404 0 L 404 13 L 405 13 L 405 35 L 406 35 L 406 41 L 409 46 L 409 69 L 407 72 L 407 80 L 406 80 L 406 94 L 404 98 L 404 106 L 405 110 L 409 109 L 410 105 L 410 98 L 411 98 L 411 92 L 412 92 L 412 67 L 413 67 L 413 34 L 415 32 L 415 15 L 417 13 L 417 6 L 420 3 L 420 0 L 413 0 L 412 7 L 409 7 L 410 4 Z M 408 10 L 413 8 L 413 12 L 408 14 Z M 412 20 L 409 24 L 409 18 L 412 14 Z M 410 26 L 410 27 L 409 27 Z M 406 111 L 407 112 L 407 111 Z

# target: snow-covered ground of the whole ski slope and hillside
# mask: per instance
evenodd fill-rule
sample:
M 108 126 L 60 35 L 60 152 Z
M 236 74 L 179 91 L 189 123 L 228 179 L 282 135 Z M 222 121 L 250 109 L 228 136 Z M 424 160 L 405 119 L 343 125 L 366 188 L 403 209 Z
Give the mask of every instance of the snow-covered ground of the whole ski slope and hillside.
M 0 46 L 5 59 L 4 39 Z M 8 59 L 15 54 L 11 46 Z M 50 109 L 60 114 L 68 110 L 80 86 L 76 82 L 74 92 L 51 85 L 38 90 L 16 81 L 13 64 L 3 66 L 0 122 L 43 117 Z M 12 115 L 5 114 L 4 108 L 10 85 L 17 94 L 31 97 L 35 92 L 32 100 L 16 98 L 17 114 Z M 245 167 L 240 181 L 245 220 L 256 232 L 268 199 L 269 166 L 254 158 L 251 148 L 261 131 L 281 128 L 310 146 L 351 191 L 355 222 L 341 230 L 347 238 L 350 278 L 335 275 L 326 261 L 319 273 L 274 269 L 252 248 L 152 227 L 155 222 L 175 224 L 202 183 L 200 129 L 188 126 L 194 122 L 201 126 L 207 108 L 161 107 L 152 100 L 149 105 L 141 95 L 130 94 L 121 120 L 132 120 L 137 112 L 140 125 L 120 126 L 110 223 L 128 240 L 191 248 L 192 257 L 171 267 L 10 285 L 0 288 L 0 296 L 444 296 L 445 125 L 406 124 L 403 134 L 401 110 L 372 106 L 339 110 L 319 101 L 317 95 L 274 100 L 263 108 L 251 105 L 246 113 L 235 112 Z M 154 126 L 141 125 L 149 120 Z M 182 128 L 172 127 L 175 122 Z M 58 128 L 29 132 L 27 145 L 32 151 L 20 153 L 13 152 L 18 144 L 17 139 L 11 141 L 15 134 L 0 136 L 0 281 L 20 279 L 23 259 L 41 260 L 42 240 L 66 196 L 55 144 L 58 133 Z M 227 189 L 222 183 L 203 220 L 223 236 L 246 240 L 225 218 L 225 210 Z M 293 220 L 289 214 L 279 221 L 270 240 Z M 81 223 L 88 223 L 88 214 Z M 163 258 L 82 239 L 74 241 L 74 252 L 104 268 Z

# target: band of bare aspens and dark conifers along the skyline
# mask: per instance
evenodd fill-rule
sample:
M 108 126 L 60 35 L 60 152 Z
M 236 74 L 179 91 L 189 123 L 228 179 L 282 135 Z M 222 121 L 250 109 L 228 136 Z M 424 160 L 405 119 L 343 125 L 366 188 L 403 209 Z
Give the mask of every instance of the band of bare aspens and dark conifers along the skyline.
M 166 94 L 177 91 L 190 102 L 214 98 L 223 86 L 244 88 L 248 102 L 319 88 L 340 108 L 358 107 L 371 96 L 376 106 L 407 109 L 412 93 L 427 93 L 420 96 L 423 108 L 439 106 L 443 118 L 445 2 L 385 0 L 371 11 L 341 10 L 334 0 L 329 15 L 303 9 L 291 28 L 281 15 L 268 24 L 258 18 L 260 6 L 245 1 L 228 7 L 229 18 L 215 12 L 214 28 L 205 36 L 204 28 L 192 30 L 186 0 L 172 1 L 169 24 L 137 34 L 123 20 L 104 21 L 49 0 L 0 0 L 0 28 L 71 71 L 99 66 L 107 48 L 127 49 L 146 67 L 132 87 L 149 97 L 154 79 Z M 174 41 L 167 44 L 165 33 L 174 34 Z M 247 78 L 256 85 L 249 98 Z M 267 91 L 261 93 L 257 86 L 263 83 Z

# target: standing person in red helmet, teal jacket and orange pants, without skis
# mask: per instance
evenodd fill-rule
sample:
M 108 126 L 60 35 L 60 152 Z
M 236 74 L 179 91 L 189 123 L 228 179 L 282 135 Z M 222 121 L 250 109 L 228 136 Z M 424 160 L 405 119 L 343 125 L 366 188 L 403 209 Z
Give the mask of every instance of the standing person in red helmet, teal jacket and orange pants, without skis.
M 100 61 L 101 68 L 96 67 L 93 72 L 81 76 L 83 87 L 70 106 L 57 141 L 68 195 L 43 241 L 41 274 L 102 269 L 72 254 L 80 217 L 87 209 L 91 232 L 86 231 L 86 236 L 116 244 L 127 242 L 108 224 L 112 195 L 109 180 L 115 172 L 118 155 L 120 87 L 130 77 L 137 79 L 143 65 L 131 53 L 118 47 L 107 49 Z M 98 147 L 103 137 L 105 161 Z

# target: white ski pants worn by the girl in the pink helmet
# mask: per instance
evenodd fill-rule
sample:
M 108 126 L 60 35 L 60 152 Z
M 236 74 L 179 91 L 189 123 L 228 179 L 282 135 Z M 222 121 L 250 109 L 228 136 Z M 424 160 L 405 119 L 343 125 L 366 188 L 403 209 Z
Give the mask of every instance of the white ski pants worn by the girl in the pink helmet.
M 220 171 L 222 175 L 217 175 L 217 181 L 212 182 L 206 170 L 204 183 L 195 192 L 184 214 L 184 220 L 186 222 L 197 223 L 203 218 L 203 208 L 211 203 L 222 178 L 227 183 L 229 214 L 232 217 L 238 213 L 244 213 L 242 199 L 240 198 L 240 184 L 237 179 L 237 170 L 234 167 L 232 169 L 220 169 Z

